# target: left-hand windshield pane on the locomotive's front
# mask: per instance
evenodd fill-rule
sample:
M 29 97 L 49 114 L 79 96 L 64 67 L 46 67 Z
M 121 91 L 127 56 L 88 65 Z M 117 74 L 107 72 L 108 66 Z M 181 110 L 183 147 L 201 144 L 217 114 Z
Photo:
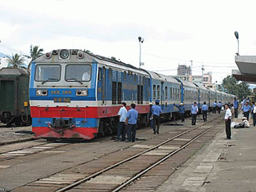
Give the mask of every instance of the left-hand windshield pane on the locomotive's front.
M 37 65 L 35 70 L 35 81 L 59 81 L 60 65 Z

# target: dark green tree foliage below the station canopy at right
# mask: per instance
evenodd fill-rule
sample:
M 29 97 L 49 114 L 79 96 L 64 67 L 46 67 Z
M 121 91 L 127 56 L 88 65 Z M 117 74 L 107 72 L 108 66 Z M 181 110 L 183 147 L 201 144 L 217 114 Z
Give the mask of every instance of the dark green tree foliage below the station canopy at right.
M 223 79 L 222 83 L 224 89 L 228 90 L 228 93 L 236 95 L 239 100 L 241 100 L 243 96 L 247 97 L 252 94 L 249 85 L 245 82 L 238 82 L 234 76 L 228 75 Z

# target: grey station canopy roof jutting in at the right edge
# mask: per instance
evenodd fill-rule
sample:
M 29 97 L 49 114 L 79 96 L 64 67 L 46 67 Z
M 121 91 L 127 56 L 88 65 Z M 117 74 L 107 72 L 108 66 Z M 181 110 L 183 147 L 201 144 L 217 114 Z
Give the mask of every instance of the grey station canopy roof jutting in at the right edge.
M 256 83 L 256 56 L 237 55 L 235 62 L 239 70 L 232 70 L 232 75 L 238 81 Z

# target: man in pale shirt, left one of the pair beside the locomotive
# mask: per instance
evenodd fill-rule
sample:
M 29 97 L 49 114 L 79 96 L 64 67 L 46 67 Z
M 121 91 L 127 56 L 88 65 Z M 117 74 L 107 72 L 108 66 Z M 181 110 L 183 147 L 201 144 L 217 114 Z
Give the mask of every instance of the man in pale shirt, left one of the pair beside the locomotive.
M 117 127 L 117 135 L 115 141 L 119 141 L 120 134 L 122 135 L 122 140 L 125 141 L 125 134 L 126 134 L 126 125 L 125 119 L 126 119 L 126 114 L 127 114 L 127 109 L 125 108 L 126 103 L 122 102 L 122 107 L 119 109 L 118 112 L 118 117 L 119 117 L 119 122 L 118 122 L 118 127 Z

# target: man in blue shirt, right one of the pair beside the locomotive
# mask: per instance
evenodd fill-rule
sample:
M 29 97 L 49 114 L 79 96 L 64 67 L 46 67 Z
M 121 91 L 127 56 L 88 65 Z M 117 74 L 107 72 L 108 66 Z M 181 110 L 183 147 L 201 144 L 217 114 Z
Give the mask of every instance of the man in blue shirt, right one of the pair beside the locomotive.
M 134 103 L 131 104 L 131 109 L 127 112 L 125 125 L 127 125 L 127 141 L 126 142 L 134 142 L 136 136 L 136 127 L 137 127 L 137 119 L 138 119 L 138 111 L 135 110 L 136 105 Z

